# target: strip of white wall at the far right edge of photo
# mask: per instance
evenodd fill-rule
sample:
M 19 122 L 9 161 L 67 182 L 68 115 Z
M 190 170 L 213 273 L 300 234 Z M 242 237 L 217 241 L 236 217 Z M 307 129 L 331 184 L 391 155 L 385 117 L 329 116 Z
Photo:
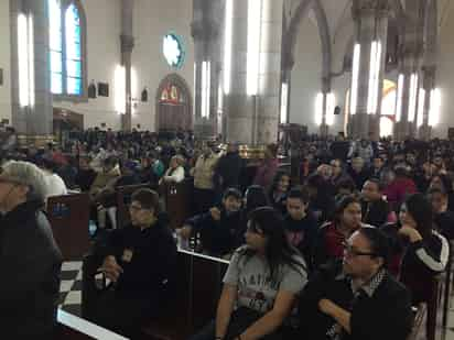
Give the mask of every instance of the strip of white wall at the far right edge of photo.
M 447 138 L 447 129 L 454 128 L 454 7 L 451 6 L 443 21 L 440 35 L 440 55 L 435 84 L 441 90 L 442 107 L 440 123 L 433 129 L 433 136 Z

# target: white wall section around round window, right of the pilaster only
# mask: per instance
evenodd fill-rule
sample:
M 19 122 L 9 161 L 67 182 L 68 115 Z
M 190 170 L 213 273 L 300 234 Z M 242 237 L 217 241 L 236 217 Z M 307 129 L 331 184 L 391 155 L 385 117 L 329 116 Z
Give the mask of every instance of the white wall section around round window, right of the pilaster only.
M 136 47 L 132 65 L 137 69 L 137 94 L 140 98 L 142 89 L 149 89 L 149 101 L 139 102 L 132 116 L 132 125 L 141 124 L 141 129 L 155 130 L 155 97 L 161 80 L 171 73 L 179 74 L 186 80 L 194 96 L 194 44 L 191 36 L 193 19 L 193 1 L 166 0 L 134 2 Z M 180 35 L 186 50 L 185 63 L 181 69 L 172 69 L 162 54 L 162 39 L 172 31 Z

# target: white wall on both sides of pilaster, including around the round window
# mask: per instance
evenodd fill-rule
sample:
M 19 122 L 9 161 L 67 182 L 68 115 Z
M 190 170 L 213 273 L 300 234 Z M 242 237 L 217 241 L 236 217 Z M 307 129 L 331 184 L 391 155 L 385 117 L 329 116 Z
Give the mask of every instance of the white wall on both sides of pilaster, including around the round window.
M 84 114 L 85 128 L 99 127 L 118 130 L 121 117 L 115 110 L 115 69 L 120 64 L 121 6 L 119 0 L 83 0 L 87 15 L 88 81 L 109 84 L 109 97 L 89 99 L 88 102 L 54 102 L 54 107 L 66 108 Z M 162 54 L 162 39 L 169 31 L 183 37 L 186 62 L 176 70 L 193 91 L 194 47 L 191 36 L 192 1 L 136 0 L 133 13 L 136 46 L 132 52 L 132 67 L 137 75 L 132 86 L 132 98 L 140 99 L 147 86 L 149 101 L 138 102 L 132 114 L 132 127 L 154 131 L 155 94 L 160 81 L 173 73 Z

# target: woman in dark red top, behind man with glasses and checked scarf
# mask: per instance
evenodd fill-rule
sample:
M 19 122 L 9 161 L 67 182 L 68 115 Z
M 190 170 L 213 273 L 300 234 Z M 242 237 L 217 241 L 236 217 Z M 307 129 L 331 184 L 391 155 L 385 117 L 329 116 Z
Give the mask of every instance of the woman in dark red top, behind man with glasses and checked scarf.
M 344 256 L 345 241 L 361 228 L 361 205 L 354 196 L 345 196 L 337 202 L 333 221 L 318 230 L 314 246 L 314 268 Z

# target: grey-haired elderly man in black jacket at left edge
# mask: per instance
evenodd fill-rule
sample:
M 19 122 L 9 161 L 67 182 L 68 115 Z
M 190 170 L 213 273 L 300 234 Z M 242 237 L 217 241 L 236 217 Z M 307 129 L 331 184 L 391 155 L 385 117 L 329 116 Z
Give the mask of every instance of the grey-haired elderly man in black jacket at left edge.
M 43 172 L 9 162 L 0 174 L 0 320 L 4 339 L 51 339 L 62 254 L 42 211 Z

